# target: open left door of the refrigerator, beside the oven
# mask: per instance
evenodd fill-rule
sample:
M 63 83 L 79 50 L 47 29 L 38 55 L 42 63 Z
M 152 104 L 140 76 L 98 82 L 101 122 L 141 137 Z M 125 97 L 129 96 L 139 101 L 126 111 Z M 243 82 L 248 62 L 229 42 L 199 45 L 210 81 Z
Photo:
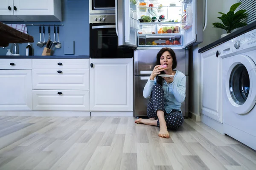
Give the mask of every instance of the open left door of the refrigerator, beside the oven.
M 139 20 L 130 17 L 130 1 L 116 0 L 116 34 L 118 45 L 137 48 Z

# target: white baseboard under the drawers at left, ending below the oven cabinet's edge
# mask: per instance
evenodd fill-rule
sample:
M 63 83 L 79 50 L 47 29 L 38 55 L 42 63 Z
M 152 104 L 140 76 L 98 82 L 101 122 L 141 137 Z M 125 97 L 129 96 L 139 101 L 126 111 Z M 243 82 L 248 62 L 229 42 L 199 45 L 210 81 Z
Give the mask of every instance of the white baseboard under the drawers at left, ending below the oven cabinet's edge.
M 90 116 L 89 111 L 0 111 L 0 116 Z

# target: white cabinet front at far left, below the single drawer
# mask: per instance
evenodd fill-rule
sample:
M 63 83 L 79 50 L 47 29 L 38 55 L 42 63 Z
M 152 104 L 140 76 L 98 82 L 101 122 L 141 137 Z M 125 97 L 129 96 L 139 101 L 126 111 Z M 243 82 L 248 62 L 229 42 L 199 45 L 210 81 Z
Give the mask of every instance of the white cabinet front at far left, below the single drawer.
M 31 78 L 31 70 L 0 70 L 0 111 L 32 110 Z

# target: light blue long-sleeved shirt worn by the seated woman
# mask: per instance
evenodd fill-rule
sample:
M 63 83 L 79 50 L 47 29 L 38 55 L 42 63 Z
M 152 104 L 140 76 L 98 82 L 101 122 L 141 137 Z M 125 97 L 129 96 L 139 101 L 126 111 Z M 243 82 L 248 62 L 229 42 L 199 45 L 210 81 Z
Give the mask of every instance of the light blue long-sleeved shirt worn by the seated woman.
M 170 113 L 173 109 L 181 111 L 181 103 L 184 102 L 186 97 L 186 76 L 177 70 L 173 82 L 163 82 L 163 93 L 165 98 L 166 113 Z M 151 96 L 151 91 L 154 85 L 157 84 L 156 78 L 154 80 L 148 79 L 147 84 L 143 90 L 143 96 L 148 99 Z

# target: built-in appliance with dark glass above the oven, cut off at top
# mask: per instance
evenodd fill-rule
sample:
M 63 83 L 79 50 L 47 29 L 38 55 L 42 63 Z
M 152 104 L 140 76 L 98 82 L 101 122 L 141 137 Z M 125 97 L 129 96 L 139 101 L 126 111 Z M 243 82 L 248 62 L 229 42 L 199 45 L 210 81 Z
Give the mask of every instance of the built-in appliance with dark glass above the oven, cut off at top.
M 116 0 L 89 0 L 90 14 L 115 14 Z

